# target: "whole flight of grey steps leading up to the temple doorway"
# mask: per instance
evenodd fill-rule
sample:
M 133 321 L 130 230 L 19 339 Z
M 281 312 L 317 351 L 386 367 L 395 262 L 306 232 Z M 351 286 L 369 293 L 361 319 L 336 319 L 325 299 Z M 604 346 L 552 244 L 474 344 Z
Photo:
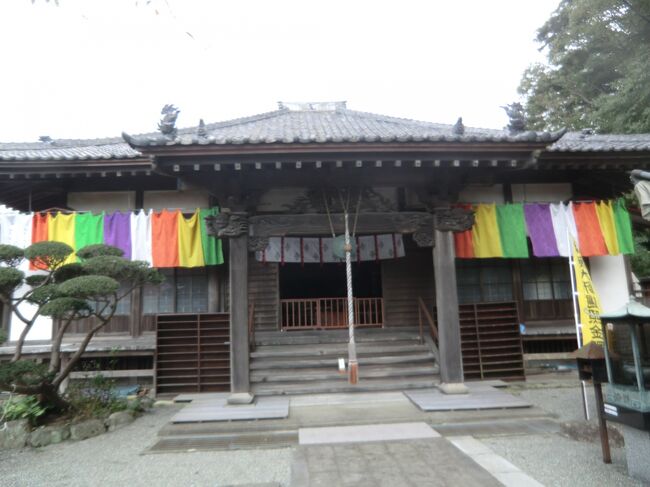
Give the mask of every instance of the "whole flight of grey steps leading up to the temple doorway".
M 356 330 L 359 382 L 348 383 L 338 359 L 348 355 L 348 330 L 257 332 L 250 354 L 256 395 L 390 391 L 438 383 L 437 351 L 416 328 Z

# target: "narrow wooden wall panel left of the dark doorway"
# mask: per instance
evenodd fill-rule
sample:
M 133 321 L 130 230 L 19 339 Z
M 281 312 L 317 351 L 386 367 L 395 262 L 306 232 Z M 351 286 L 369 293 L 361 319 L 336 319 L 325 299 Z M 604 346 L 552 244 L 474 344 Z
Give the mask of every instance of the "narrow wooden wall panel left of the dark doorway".
M 255 329 L 277 330 L 280 289 L 277 263 L 262 263 L 252 254 L 248 259 L 248 297 L 255 303 Z

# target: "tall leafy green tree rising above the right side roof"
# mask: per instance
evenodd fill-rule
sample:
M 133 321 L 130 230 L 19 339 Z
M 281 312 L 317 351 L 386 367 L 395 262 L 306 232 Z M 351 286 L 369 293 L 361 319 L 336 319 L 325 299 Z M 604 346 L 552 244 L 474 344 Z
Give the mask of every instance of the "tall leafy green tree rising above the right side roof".
M 528 128 L 650 132 L 650 2 L 562 0 L 537 42 L 547 63 L 519 85 Z

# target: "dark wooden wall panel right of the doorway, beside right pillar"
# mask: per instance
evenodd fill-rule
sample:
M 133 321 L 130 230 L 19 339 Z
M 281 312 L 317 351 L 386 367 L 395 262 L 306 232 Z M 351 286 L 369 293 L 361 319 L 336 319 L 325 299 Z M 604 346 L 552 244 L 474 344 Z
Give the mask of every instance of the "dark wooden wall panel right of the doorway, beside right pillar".
M 407 248 L 405 257 L 382 261 L 381 280 L 385 326 L 418 326 L 418 297 L 429 307 L 435 300 L 431 249 Z

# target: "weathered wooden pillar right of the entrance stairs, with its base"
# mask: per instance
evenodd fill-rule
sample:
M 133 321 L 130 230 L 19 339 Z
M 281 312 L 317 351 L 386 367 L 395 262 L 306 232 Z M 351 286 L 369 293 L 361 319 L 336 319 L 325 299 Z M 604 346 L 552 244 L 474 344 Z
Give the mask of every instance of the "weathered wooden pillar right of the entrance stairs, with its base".
M 460 319 L 452 232 L 434 230 L 433 267 L 436 283 L 440 379 L 443 385 L 460 386 L 453 391 L 444 392 L 464 393 L 467 389 L 462 385 L 463 361 L 460 349 Z

